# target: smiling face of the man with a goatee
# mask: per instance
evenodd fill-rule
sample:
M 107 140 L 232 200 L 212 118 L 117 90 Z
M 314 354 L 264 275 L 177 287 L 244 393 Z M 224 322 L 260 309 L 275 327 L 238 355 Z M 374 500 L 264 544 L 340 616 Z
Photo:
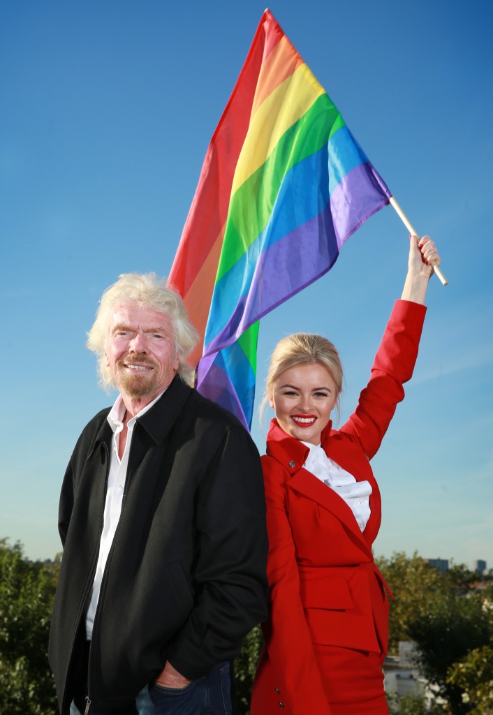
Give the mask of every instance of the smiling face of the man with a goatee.
M 146 404 L 167 388 L 180 363 L 170 318 L 135 302 L 115 307 L 105 355 L 122 395 Z

